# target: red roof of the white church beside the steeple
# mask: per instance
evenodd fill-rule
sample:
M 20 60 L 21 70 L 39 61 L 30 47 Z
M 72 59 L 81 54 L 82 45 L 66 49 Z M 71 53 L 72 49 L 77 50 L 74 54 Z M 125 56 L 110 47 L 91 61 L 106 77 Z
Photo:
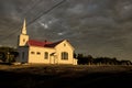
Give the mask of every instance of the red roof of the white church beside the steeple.
M 47 41 L 41 42 L 41 41 L 35 41 L 35 40 L 29 40 L 28 45 L 29 46 L 41 46 L 41 47 L 55 47 L 61 42 L 63 42 L 63 41 L 52 43 L 52 42 L 47 42 Z

